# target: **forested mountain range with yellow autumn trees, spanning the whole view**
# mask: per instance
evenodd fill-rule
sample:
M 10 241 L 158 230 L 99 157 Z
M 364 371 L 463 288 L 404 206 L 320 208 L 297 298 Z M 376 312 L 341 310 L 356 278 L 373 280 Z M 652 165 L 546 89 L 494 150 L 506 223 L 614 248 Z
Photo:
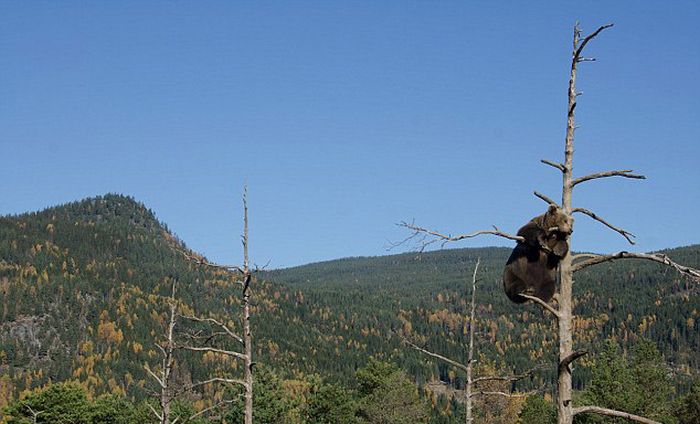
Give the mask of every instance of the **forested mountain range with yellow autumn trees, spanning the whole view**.
M 0 406 L 49 381 L 78 380 L 92 393 L 144 397 L 143 364 L 157 364 L 173 280 L 191 312 L 233 326 L 238 291 L 134 199 L 109 194 L 41 212 L 0 217 Z M 480 364 L 523 370 L 556 353 L 556 324 L 533 305 L 514 305 L 500 274 L 506 248 L 454 249 L 347 258 L 264 272 L 254 283 L 256 360 L 286 378 L 319 374 L 348 382 L 370 356 L 397 362 L 419 383 L 451 370 L 402 346 L 399 335 L 465 358 L 467 281 L 477 288 Z M 700 267 L 700 245 L 665 251 Z M 679 375 L 700 369 L 698 285 L 641 261 L 591 268 L 575 285 L 577 347 L 644 336 Z M 216 361 L 182 354 L 178 378 L 204 377 Z M 581 363 L 575 384 L 590 379 Z M 550 370 L 551 371 L 551 370 Z M 477 369 L 478 372 L 478 369 Z M 681 379 L 682 380 L 682 379 Z M 679 380 L 680 381 L 680 380 Z M 551 372 L 525 385 L 551 383 Z

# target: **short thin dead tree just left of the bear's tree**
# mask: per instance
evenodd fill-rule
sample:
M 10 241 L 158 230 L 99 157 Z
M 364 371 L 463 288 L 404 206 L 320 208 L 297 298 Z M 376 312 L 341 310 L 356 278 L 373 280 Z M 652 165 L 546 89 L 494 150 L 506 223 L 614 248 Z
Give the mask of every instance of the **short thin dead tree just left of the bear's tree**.
M 515 383 L 516 381 L 522 380 L 523 378 L 529 377 L 532 375 L 532 373 L 535 371 L 530 370 L 527 373 L 520 374 L 520 375 L 513 375 L 513 376 L 492 376 L 492 377 L 479 377 L 479 378 L 473 378 L 472 377 L 472 371 L 473 371 L 473 365 L 476 362 L 474 359 L 474 323 L 476 322 L 476 275 L 477 272 L 479 271 L 479 263 L 481 262 L 480 259 L 476 261 L 476 266 L 474 267 L 474 273 L 472 274 L 472 299 L 471 299 L 471 304 L 470 304 L 470 313 L 469 313 L 469 349 L 467 351 L 467 361 L 466 363 L 462 363 L 459 361 L 455 361 L 453 359 L 450 359 L 446 356 L 440 355 L 438 353 L 429 351 L 425 348 L 422 348 L 406 337 L 403 337 L 403 341 L 406 345 L 410 346 L 411 348 L 427 355 L 432 358 L 435 358 L 439 361 L 445 362 L 448 365 L 452 365 L 453 367 L 460 369 L 464 371 L 464 373 L 467 375 L 467 382 L 465 384 L 464 388 L 464 405 L 465 405 L 465 422 L 466 424 L 473 424 L 474 423 L 474 416 L 473 416 L 473 399 L 477 396 L 503 396 L 506 398 L 509 397 L 514 397 L 514 396 L 520 396 L 518 394 L 513 394 L 507 391 L 498 391 L 498 390 L 477 390 L 476 385 L 479 383 L 487 382 L 487 381 L 501 381 L 501 382 L 508 382 L 508 383 Z

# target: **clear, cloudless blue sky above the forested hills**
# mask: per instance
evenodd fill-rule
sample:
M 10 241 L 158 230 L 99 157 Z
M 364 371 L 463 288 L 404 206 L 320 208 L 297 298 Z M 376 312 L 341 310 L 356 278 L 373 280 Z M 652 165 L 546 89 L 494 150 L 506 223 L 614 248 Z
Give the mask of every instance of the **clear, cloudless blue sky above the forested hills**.
M 415 219 L 515 232 L 560 197 L 571 28 L 576 206 L 639 251 L 700 242 L 700 3 L 0 1 L 0 214 L 117 192 L 212 260 L 386 253 Z M 494 237 L 462 246 L 512 245 Z M 577 217 L 573 248 L 627 249 Z M 401 250 L 399 250 L 401 251 Z

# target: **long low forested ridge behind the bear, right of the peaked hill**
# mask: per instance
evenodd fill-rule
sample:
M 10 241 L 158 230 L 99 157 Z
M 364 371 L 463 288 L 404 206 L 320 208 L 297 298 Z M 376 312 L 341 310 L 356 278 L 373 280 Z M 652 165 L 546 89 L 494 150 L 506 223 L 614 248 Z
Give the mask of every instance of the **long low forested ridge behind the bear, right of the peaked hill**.
M 679 263 L 700 266 L 700 245 L 664 253 Z M 433 378 L 424 375 L 422 358 L 392 340 L 392 331 L 405 331 L 435 351 L 464 358 L 467 283 L 477 258 L 479 350 L 504 367 L 553 360 L 555 323 L 535 306 L 515 305 L 503 294 L 501 274 L 509 254 L 507 248 L 479 248 L 346 258 L 276 270 L 266 277 L 303 291 L 309 304 L 325 310 L 324 319 L 313 324 L 325 332 L 354 339 L 353 327 L 345 330 L 347 317 L 374 317 L 374 342 L 388 343 L 391 349 L 384 352 L 404 362 L 419 379 Z M 681 373 L 698 373 L 700 285 L 640 260 L 601 264 L 577 274 L 575 281 L 578 346 L 595 352 L 606 337 L 626 344 L 641 335 L 654 340 Z M 364 339 L 371 337 L 370 332 Z M 439 371 L 443 380 L 444 371 Z M 577 384 L 584 384 L 589 373 L 579 372 L 577 378 Z

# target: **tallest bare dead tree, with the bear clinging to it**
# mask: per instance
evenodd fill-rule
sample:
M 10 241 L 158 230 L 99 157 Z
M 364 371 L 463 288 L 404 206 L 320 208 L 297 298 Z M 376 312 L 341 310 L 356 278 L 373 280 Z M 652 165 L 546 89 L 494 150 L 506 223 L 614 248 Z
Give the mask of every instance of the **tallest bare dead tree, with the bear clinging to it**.
M 573 176 L 573 157 L 574 157 L 574 133 L 576 130 L 574 112 L 576 109 L 576 99 L 581 94 L 576 91 L 576 72 L 579 63 L 595 61 L 594 58 L 584 57 L 582 55 L 586 45 L 597 37 L 602 31 L 612 27 L 612 24 L 607 24 L 599 27 L 596 31 L 591 33 L 586 37 L 581 37 L 581 29 L 579 24 L 576 23 L 574 26 L 574 36 L 573 36 L 573 51 L 571 59 L 571 74 L 569 79 L 568 87 L 568 108 L 567 108 L 567 124 L 566 124 L 566 139 L 564 147 L 564 163 L 558 163 L 550 160 L 542 160 L 545 165 L 554 167 L 561 171 L 562 173 L 562 200 L 560 207 L 564 210 L 566 214 L 572 216 L 574 213 L 582 213 L 589 216 L 590 218 L 600 222 L 607 228 L 619 233 L 624 237 L 630 244 L 634 244 L 634 235 L 628 231 L 619 228 L 615 225 L 608 223 L 606 220 L 591 212 L 588 209 L 573 207 L 572 206 L 572 193 L 574 187 L 584 183 L 586 181 L 592 181 L 601 178 L 609 177 L 623 177 L 632 179 L 645 179 L 643 175 L 633 174 L 631 170 L 612 170 L 597 172 L 590 175 L 585 175 L 582 177 Z M 556 204 L 551 198 L 544 194 L 535 192 L 535 196 L 544 200 L 549 204 Z M 437 231 L 426 230 L 425 228 L 419 227 L 413 223 L 403 222 L 399 224 L 410 231 L 412 234 L 403 242 L 409 240 L 417 240 L 421 249 L 426 246 L 440 242 L 443 245 L 445 243 L 459 241 L 465 238 L 475 237 L 481 234 L 492 234 L 500 237 L 504 237 L 510 240 L 522 240 L 521 237 L 513 236 L 507 233 L 503 233 L 498 228 L 494 227 L 494 230 L 484 230 L 477 231 L 471 234 L 452 236 L 449 234 L 442 234 Z M 570 237 L 570 236 L 569 236 Z M 570 240 L 569 240 L 570 241 Z M 403 243 L 402 242 L 402 243 Z M 569 243 L 569 246 L 571 243 Z M 569 253 L 569 252 L 567 252 Z M 655 253 L 633 253 L 633 252 L 617 252 L 613 254 L 567 254 L 561 260 L 559 264 L 559 280 L 560 286 L 558 293 L 555 294 L 556 305 L 548 304 L 541 299 L 522 294 L 521 296 L 537 303 L 543 309 L 552 313 L 558 322 L 558 336 L 559 336 L 559 363 L 558 363 L 558 378 L 557 378 L 557 423 L 558 424 L 572 424 L 574 416 L 577 414 L 584 413 L 595 413 L 601 415 L 608 415 L 613 417 L 624 417 L 632 421 L 641 423 L 656 423 L 656 421 L 650 420 L 648 418 L 639 417 L 634 414 L 629 414 L 626 412 L 615 411 L 607 408 L 602 408 L 599 406 L 580 406 L 575 407 L 572 405 L 572 376 L 571 376 L 571 364 L 581 356 L 585 355 L 587 352 L 584 350 L 574 350 L 573 343 L 573 275 L 575 272 L 582 269 L 588 268 L 589 266 L 615 261 L 619 259 L 645 259 L 653 261 L 662 265 L 674 268 L 676 271 L 682 275 L 688 276 L 695 280 L 700 280 L 700 271 L 687 266 L 680 265 L 668 256 Z

